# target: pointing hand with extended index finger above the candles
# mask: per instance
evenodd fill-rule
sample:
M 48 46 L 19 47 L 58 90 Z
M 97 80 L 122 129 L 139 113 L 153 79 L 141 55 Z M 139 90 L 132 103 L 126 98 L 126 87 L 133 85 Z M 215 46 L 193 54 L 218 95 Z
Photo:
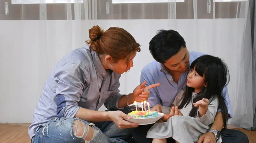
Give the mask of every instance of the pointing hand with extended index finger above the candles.
M 142 84 L 140 84 L 139 86 L 137 86 L 135 88 L 135 90 L 132 92 L 134 95 L 134 100 L 137 102 L 142 102 L 142 101 L 147 101 L 148 100 L 148 94 L 150 94 L 150 90 L 151 88 L 157 87 L 160 84 L 151 84 L 148 86 L 145 86 L 146 81 L 144 81 Z

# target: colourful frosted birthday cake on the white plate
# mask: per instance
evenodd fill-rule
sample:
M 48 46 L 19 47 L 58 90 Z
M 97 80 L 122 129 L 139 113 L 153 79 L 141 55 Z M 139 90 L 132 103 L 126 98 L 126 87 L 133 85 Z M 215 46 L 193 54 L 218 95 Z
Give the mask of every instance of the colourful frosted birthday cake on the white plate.
M 132 111 L 128 113 L 132 119 L 153 118 L 158 116 L 157 111 Z

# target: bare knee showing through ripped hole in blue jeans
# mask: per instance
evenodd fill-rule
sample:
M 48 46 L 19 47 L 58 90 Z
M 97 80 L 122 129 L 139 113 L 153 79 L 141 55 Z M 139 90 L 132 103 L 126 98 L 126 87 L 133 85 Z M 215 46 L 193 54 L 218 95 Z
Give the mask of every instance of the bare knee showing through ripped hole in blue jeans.
M 73 123 L 73 134 L 76 137 L 83 138 L 85 141 L 93 140 L 94 137 L 96 137 L 96 135 L 99 133 L 99 130 L 92 128 L 93 130 L 91 130 L 91 132 L 93 132 L 93 134 L 89 134 L 90 127 L 92 126 L 94 126 L 93 123 L 88 125 L 82 121 L 75 120 Z

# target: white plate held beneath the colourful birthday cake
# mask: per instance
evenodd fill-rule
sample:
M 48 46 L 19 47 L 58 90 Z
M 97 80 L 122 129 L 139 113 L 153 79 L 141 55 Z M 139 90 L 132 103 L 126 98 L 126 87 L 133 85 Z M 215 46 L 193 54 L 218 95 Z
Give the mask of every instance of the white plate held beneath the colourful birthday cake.
M 158 121 L 162 117 L 163 117 L 163 113 L 158 113 L 157 117 L 141 118 L 141 119 L 125 119 L 125 120 L 132 123 L 138 123 L 140 125 L 148 125 L 148 124 L 156 123 L 156 121 Z

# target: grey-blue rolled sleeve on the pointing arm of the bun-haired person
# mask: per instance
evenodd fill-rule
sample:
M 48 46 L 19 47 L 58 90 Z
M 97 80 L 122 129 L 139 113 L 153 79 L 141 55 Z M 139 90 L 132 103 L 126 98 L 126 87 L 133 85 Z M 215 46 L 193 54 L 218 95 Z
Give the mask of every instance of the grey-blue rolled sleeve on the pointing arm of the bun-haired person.
M 120 94 L 120 79 L 121 75 L 116 79 L 116 82 L 111 85 L 111 94 L 109 95 L 108 99 L 105 101 L 104 106 L 108 109 L 123 109 L 118 107 L 119 99 L 124 96 Z

